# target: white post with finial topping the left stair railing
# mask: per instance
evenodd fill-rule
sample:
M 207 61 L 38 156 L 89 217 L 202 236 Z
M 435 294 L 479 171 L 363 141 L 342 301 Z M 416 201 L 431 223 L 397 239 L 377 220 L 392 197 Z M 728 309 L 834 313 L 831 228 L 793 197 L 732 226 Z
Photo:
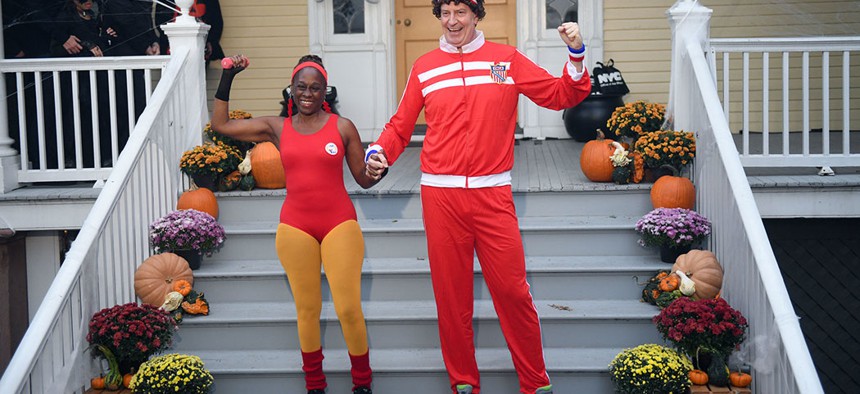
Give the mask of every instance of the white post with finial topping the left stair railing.
M 209 110 L 206 106 L 206 62 L 204 60 L 204 48 L 206 47 L 206 36 L 209 34 L 210 26 L 189 15 L 193 0 L 178 0 L 176 4 L 182 10 L 182 14 L 176 17 L 175 22 L 166 23 L 161 26 L 170 40 L 170 51 L 178 53 L 190 50 L 189 63 L 186 64 L 184 72 L 186 77 L 188 108 L 193 112 L 189 124 L 191 130 L 186 130 L 186 146 L 198 145 L 203 142 L 203 127 L 209 120 Z

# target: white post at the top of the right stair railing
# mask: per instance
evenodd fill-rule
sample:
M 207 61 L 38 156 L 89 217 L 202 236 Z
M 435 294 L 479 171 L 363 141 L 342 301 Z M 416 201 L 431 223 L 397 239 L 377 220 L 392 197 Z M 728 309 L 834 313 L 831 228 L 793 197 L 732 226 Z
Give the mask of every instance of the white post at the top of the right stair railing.
M 698 91 L 695 90 L 694 84 L 689 83 L 695 80 L 693 70 L 690 67 L 683 67 L 682 59 L 687 56 L 688 43 L 697 45 L 702 51 L 708 48 L 711 13 L 713 10 L 700 5 L 695 0 L 679 0 L 666 11 L 669 25 L 672 27 L 672 74 L 666 114 L 671 116 L 669 122 L 673 122 L 671 127 L 675 130 L 694 131 L 691 130 L 693 123 L 689 116 L 699 111 L 680 107 L 698 103 L 701 99 L 691 99 L 692 95 L 698 94 Z

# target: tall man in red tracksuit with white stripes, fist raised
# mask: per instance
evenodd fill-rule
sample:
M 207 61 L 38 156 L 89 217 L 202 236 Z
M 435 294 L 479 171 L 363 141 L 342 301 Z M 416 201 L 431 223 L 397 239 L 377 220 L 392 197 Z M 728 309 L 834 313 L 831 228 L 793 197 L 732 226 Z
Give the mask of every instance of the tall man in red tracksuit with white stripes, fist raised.
M 484 0 L 434 0 L 433 13 L 442 25 L 439 49 L 415 61 L 397 112 L 367 150 L 366 171 L 381 177 L 397 160 L 423 108 L 421 202 L 451 390 L 480 392 L 472 331 L 477 253 L 520 393 L 552 393 L 540 321 L 526 282 L 510 170 L 520 93 L 561 110 L 591 92 L 582 36 L 576 23 L 559 26 L 570 57 L 557 78 L 515 47 L 484 40 L 476 30 L 485 15 Z

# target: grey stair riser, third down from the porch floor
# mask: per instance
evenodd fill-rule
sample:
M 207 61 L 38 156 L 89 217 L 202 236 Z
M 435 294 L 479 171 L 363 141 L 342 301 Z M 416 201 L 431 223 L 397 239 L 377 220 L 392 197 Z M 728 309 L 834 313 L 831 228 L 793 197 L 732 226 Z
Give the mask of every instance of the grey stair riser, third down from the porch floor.
M 205 263 L 204 263 L 205 264 Z M 668 267 L 668 265 L 667 265 Z M 639 282 L 653 272 L 599 273 L 530 273 L 528 282 L 537 300 L 630 300 L 641 296 Z M 489 300 L 489 290 L 480 274 L 475 276 L 475 299 Z M 322 294 L 331 299 L 331 291 L 322 279 Z M 271 275 L 252 278 L 198 277 L 194 288 L 206 293 L 206 298 L 218 302 L 292 302 L 286 276 Z M 433 300 L 429 271 L 406 274 L 367 274 L 362 276 L 362 299 L 374 301 Z

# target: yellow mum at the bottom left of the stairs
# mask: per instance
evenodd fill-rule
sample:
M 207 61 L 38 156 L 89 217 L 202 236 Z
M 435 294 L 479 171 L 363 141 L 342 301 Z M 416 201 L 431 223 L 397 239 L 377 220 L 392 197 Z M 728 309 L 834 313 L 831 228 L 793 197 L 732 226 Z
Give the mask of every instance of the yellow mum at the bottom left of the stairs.
M 171 353 L 143 363 L 129 388 L 133 393 L 206 394 L 214 381 L 200 357 Z

